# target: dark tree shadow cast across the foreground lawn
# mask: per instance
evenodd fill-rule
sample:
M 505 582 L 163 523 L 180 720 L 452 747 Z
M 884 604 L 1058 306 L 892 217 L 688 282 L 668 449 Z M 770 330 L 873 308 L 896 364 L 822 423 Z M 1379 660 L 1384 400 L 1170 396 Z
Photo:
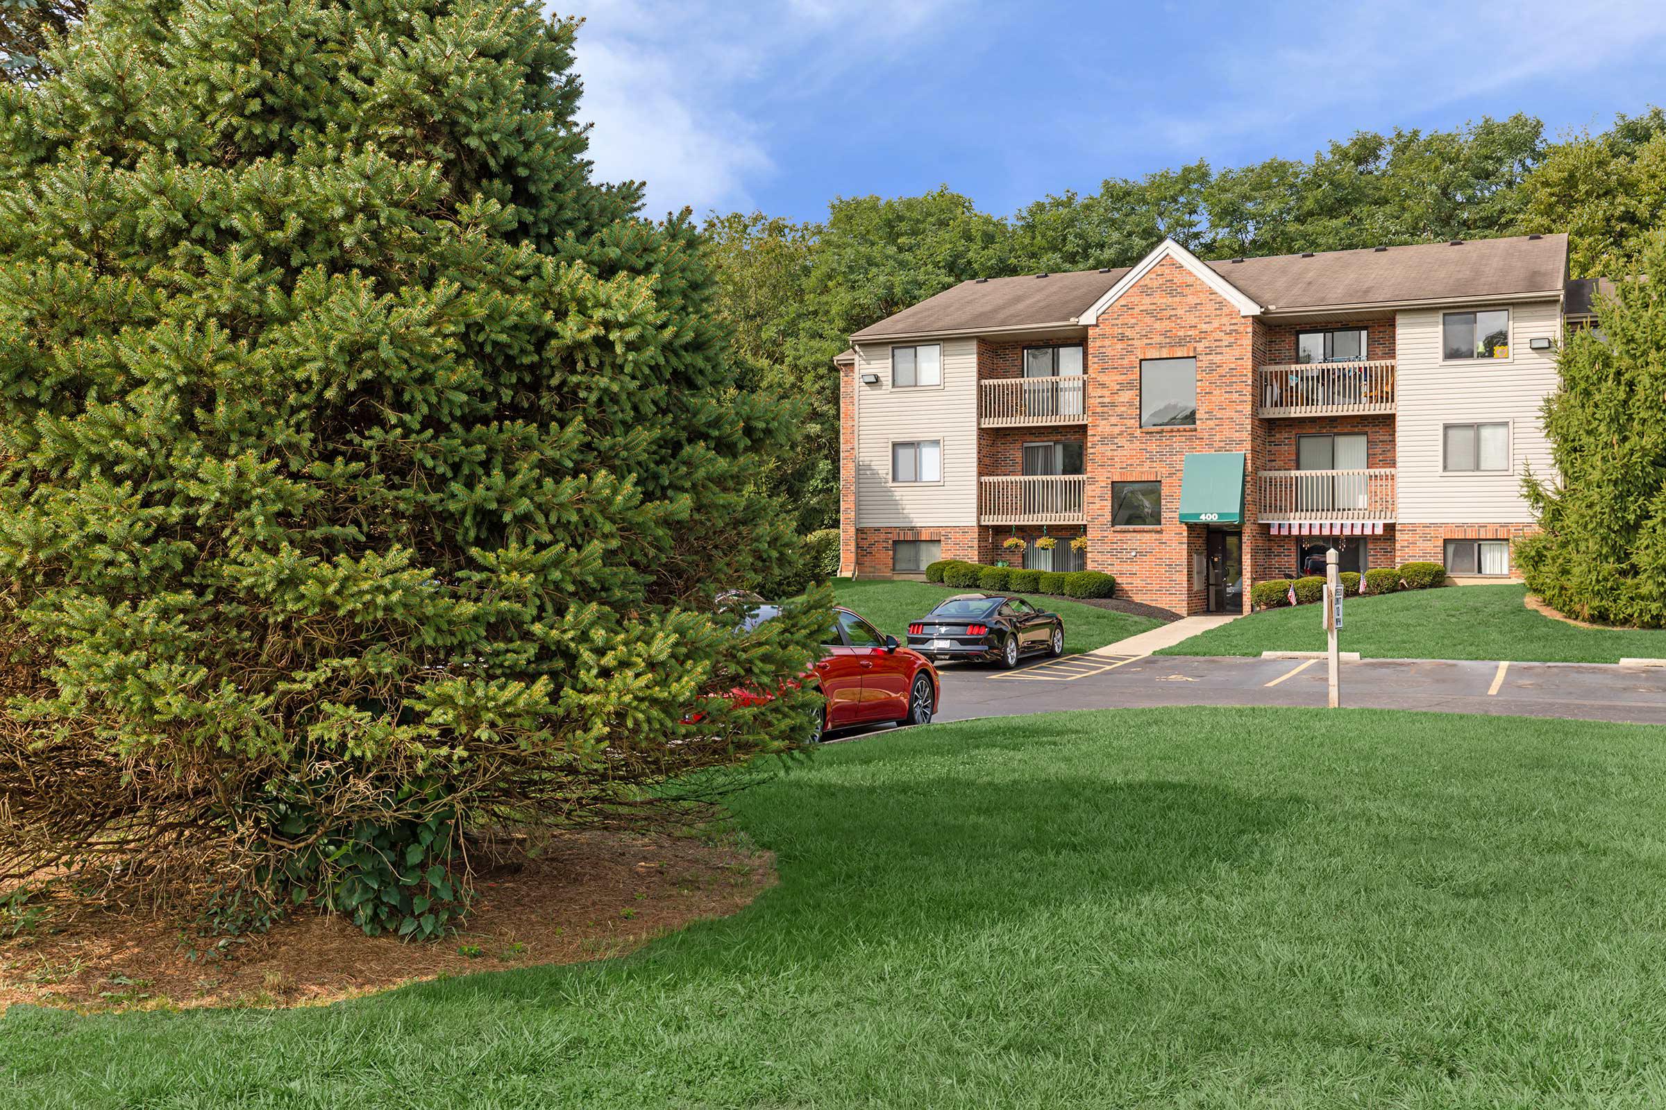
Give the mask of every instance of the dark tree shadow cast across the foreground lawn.
M 970 942 L 1011 924 L 1070 922 L 1148 892 L 1230 880 L 1301 804 L 1166 780 L 1093 776 L 906 785 L 783 779 L 748 797 L 743 824 L 776 852 L 781 884 L 736 917 L 705 922 L 623 960 L 498 972 L 412 987 L 548 999 L 571 975 L 725 975 L 840 964 L 856 950 Z

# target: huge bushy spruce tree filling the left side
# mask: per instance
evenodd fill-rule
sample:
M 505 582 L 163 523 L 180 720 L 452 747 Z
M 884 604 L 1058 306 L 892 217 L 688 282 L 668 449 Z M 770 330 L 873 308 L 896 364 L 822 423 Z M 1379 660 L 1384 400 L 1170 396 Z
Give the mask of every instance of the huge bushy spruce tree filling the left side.
M 481 837 L 801 736 L 701 701 L 826 599 L 725 611 L 793 569 L 781 433 L 688 223 L 591 181 L 575 30 L 102 0 L 0 90 L 0 879 L 433 934 Z

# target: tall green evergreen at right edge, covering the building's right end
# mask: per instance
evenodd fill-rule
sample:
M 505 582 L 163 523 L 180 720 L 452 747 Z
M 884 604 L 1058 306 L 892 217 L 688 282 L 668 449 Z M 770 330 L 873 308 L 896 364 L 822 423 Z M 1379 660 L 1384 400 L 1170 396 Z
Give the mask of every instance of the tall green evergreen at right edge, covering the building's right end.
M 1666 243 L 1621 280 L 1599 326 L 1566 336 L 1544 403 L 1556 474 L 1526 493 L 1539 534 L 1516 544 L 1529 589 L 1586 621 L 1666 626 Z

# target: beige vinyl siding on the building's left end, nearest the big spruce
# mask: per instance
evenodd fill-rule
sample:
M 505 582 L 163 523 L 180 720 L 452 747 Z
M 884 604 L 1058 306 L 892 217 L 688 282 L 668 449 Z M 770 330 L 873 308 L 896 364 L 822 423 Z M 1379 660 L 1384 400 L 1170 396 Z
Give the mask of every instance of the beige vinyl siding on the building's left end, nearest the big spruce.
M 978 341 L 941 346 L 943 384 L 906 389 L 891 388 L 888 344 L 856 348 L 856 528 L 978 523 Z M 880 384 L 861 384 L 863 374 Z M 891 483 L 891 444 L 915 439 L 943 443 L 941 483 Z

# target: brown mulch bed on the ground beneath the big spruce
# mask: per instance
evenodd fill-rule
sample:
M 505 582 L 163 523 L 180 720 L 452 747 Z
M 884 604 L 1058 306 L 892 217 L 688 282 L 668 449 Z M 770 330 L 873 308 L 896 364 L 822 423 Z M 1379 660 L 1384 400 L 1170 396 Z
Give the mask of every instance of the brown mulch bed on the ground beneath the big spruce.
M 367 937 L 308 914 L 225 945 L 188 940 L 183 920 L 47 904 L 0 939 L 0 1012 L 13 1002 L 77 1008 L 317 1005 L 441 975 L 621 955 L 706 917 L 735 914 L 775 882 L 773 859 L 733 839 L 570 834 L 478 877 L 461 934 L 436 942 Z

